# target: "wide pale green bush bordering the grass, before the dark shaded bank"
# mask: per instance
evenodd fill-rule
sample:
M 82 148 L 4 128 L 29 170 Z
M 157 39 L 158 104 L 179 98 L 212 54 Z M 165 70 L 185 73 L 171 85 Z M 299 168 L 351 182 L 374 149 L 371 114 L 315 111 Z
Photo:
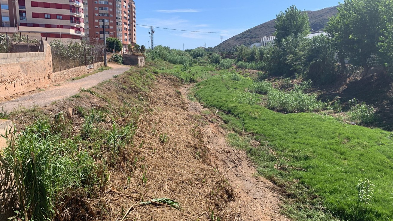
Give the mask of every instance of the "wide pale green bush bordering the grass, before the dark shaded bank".
M 326 104 L 316 99 L 316 95 L 309 95 L 301 91 L 271 90 L 268 93 L 268 108 L 286 113 L 320 111 Z

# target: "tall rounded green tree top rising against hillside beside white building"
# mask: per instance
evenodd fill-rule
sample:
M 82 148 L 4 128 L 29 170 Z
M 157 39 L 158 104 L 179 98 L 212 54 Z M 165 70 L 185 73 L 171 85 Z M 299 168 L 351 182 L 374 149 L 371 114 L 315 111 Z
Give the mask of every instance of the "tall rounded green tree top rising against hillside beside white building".
M 307 35 L 310 33 L 309 16 L 305 11 L 296 8 L 295 5 L 290 6 L 285 12 L 280 11 L 275 21 L 275 42 L 281 43 L 283 38 L 290 35 Z

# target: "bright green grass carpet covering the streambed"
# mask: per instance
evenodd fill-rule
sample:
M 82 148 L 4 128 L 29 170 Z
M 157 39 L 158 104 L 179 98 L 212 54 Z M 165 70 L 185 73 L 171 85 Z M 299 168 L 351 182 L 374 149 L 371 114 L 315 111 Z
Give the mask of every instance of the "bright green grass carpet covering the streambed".
M 234 97 L 252 81 L 233 81 L 230 73 L 221 73 L 196 84 L 196 97 L 228 113 L 218 114 L 227 129 L 256 134 L 253 139 L 261 146 L 246 150 L 259 174 L 284 186 L 288 197 L 303 203 L 284 206 L 289 217 L 330 219 L 301 212 L 301 205 L 307 203 L 321 210 L 325 207 L 344 220 L 393 220 L 393 140 L 388 132 L 314 113 L 283 114 L 258 104 L 240 104 Z M 356 185 L 366 178 L 375 184 L 374 199 L 372 206 L 358 206 Z

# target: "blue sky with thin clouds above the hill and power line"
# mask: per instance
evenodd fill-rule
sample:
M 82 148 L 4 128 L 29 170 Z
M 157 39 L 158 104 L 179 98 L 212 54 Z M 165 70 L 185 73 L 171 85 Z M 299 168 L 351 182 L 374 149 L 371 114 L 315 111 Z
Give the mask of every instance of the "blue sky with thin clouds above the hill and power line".
M 341 1 L 342 2 L 342 1 Z M 338 0 L 135 0 L 136 24 L 220 33 L 241 33 L 275 18 L 294 4 L 298 9 L 319 10 L 338 5 Z M 149 27 L 136 27 L 137 44 L 150 45 Z M 235 34 L 208 34 L 156 28 L 154 45 L 194 49 L 214 47 Z

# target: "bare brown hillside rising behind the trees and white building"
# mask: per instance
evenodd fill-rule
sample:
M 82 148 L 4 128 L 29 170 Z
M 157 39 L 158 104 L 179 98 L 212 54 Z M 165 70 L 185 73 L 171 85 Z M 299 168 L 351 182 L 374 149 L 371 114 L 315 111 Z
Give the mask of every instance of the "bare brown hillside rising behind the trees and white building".
M 310 18 L 310 26 L 313 30 L 320 30 L 326 26 L 329 18 L 337 13 L 337 7 L 329 7 L 325 9 L 321 9 L 318 11 L 307 11 Z M 217 45 L 213 48 L 213 51 L 231 51 L 235 45 L 246 45 L 250 46 L 255 42 L 260 42 L 261 37 L 272 36 L 274 29 L 274 20 L 270 20 L 265 22 L 259 26 L 255 26 L 253 28 L 244 31 L 239 35 L 235 35 L 234 37 L 225 40 L 221 44 Z

